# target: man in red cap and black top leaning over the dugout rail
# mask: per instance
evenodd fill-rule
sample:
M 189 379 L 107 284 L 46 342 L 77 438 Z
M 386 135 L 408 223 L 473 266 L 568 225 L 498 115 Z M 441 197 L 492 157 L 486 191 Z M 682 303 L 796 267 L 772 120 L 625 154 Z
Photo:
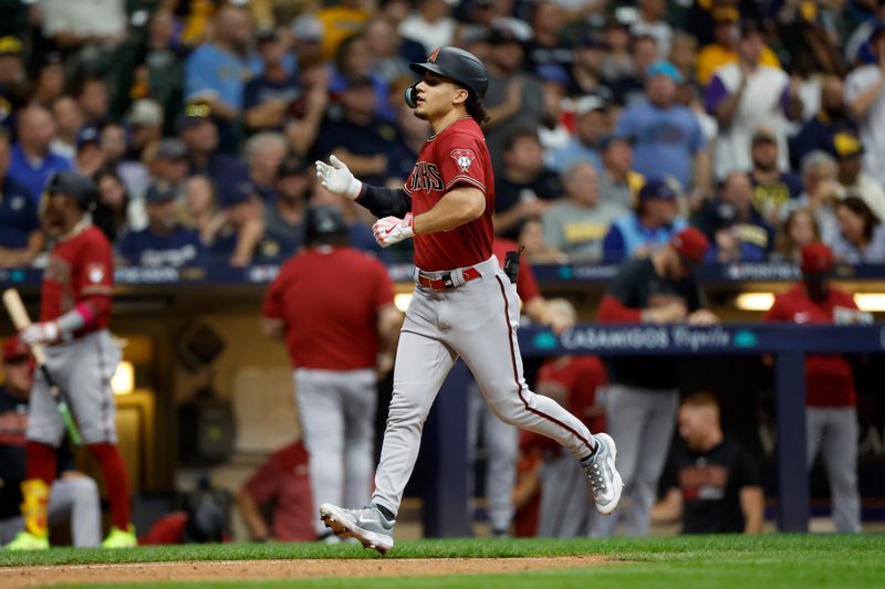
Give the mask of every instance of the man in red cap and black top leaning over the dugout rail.
M 716 315 L 705 308 L 693 276 L 708 248 L 704 233 L 689 227 L 652 254 L 628 261 L 608 285 L 596 319 L 608 324 L 717 323 Z M 616 467 L 631 481 L 625 488 L 631 496 L 624 518 L 627 536 L 648 534 L 657 481 L 676 423 L 679 362 L 675 360 L 629 356 L 607 362 L 606 419 L 618 440 Z M 610 536 L 617 524 L 616 515 L 596 518 L 591 534 Z

